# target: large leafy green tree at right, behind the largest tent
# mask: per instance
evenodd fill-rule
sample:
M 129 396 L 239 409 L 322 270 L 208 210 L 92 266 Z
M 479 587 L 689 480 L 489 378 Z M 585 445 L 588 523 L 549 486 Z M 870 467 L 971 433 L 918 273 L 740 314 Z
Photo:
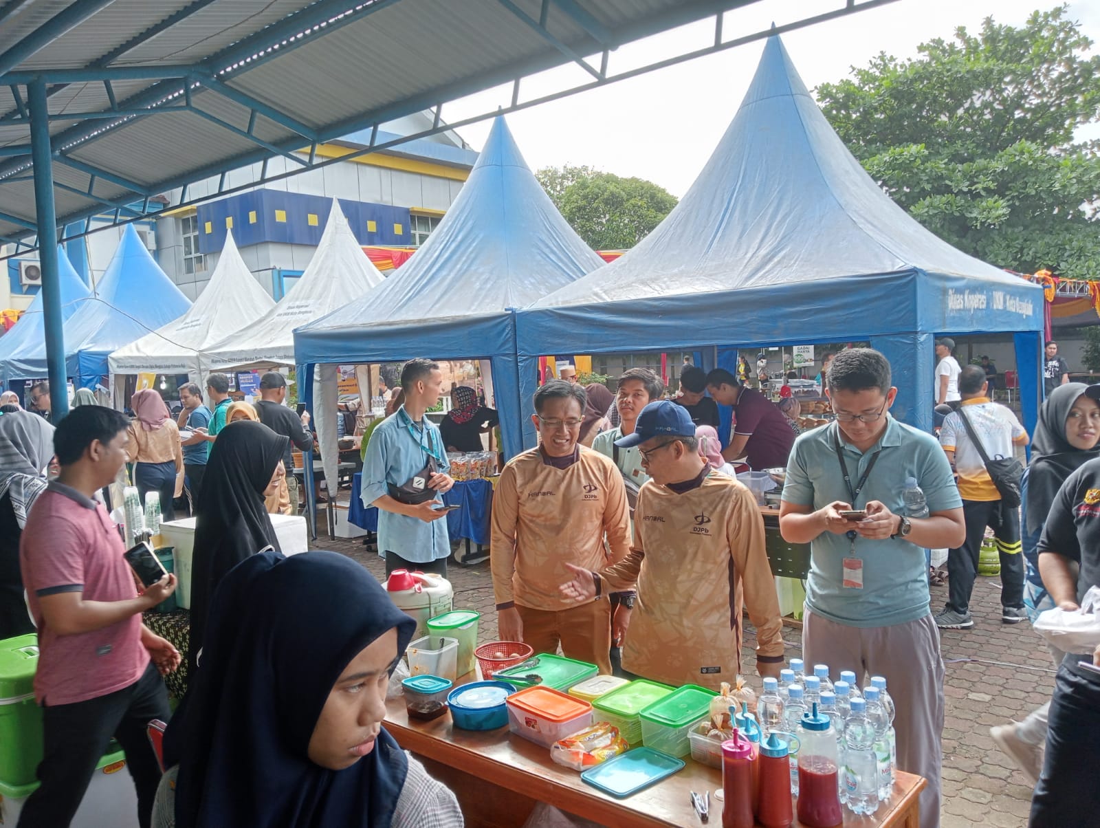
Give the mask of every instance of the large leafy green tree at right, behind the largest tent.
M 1022 28 L 987 18 L 978 34 L 884 53 L 817 88 L 825 116 L 864 167 L 921 224 L 1012 270 L 1100 279 L 1100 55 L 1066 18 Z

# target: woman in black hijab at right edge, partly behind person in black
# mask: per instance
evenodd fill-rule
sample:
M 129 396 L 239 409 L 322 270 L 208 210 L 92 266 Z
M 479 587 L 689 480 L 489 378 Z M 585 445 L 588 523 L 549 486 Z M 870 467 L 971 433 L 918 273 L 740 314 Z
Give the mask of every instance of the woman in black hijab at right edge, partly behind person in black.
M 1036 546 L 1055 495 L 1074 471 L 1100 457 L 1100 451 L 1097 450 L 1100 444 L 1100 403 L 1097 402 L 1100 394 L 1097 391 L 1100 391 L 1100 386 L 1091 388 L 1090 391 L 1082 382 L 1058 385 L 1038 412 L 1031 464 L 1024 472 L 1021 521 L 1021 540 L 1027 567 L 1024 604 L 1033 623 L 1040 612 L 1054 607 L 1040 576 Z M 1065 653 L 1049 643 L 1047 647 L 1057 668 L 1062 665 Z M 1012 758 L 1033 785 L 1038 781 L 1043 766 L 1049 708 L 1050 702 L 1047 701 L 1019 723 L 998 724 L 990 729 L 993 741 Z

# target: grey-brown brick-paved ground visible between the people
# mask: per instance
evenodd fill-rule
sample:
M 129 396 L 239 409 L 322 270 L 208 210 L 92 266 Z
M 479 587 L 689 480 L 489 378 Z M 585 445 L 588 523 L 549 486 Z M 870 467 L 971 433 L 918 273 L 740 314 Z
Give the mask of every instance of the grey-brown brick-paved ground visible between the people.
M 317 546 L 349 555 L 384 578 L 382 558 L 367 552 L 360 540 L 321 541 Z M 488 562 L 461 567 L 452 559 L 450 579 L 454 606 L 482 613 L 480 641 L 495 640 L 496 610 Z M 946 586 L 933 587 L 934 610 L 946 596 Z M 1027 822 L 1031 785 L 994 747 L 989 728 L 1022 718 L 1046 701 L 1054 687 L 1054 667 L 1046 647 L 1026 622 L 1001 623 L 999 596 L 998 578 L 979 578 L 971 603 L 976 625 L 944 631 L 942 636 L 947 666 L 943 828 L 1016 828 Z M 755 643 L 752 634 L 746 619 L 748 652 Z M 788 657 L 800 656 L 799 631 L 784 628 L 783 638 Z

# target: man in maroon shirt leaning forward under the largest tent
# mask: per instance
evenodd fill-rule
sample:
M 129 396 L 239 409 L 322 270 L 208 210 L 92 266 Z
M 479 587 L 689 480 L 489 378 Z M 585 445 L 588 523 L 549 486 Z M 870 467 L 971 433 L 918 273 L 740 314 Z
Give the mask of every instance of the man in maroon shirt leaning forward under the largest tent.
M 734 433 L 723 457 L 737 460 L 747 456 L 749 466 L 757 470 L 787 466 L 794 432 L 783 412 L 759 391 L 741 385 L 724 368 L 715 368 L 706 375 L 706 389 L 719 405 L 734 407 Z

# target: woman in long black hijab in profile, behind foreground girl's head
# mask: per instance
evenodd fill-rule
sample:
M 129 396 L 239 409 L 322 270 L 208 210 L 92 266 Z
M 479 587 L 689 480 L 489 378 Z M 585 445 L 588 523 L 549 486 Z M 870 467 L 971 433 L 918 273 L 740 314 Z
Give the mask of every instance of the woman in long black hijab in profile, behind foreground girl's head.
M 188 676 L 195 675 L 218 582 L 250 555 L 279 548 L 264 498 L 277 490 L 287 443 L 261 423 L 239 421 L 222 428 L 210 449 L 195 524 Z

